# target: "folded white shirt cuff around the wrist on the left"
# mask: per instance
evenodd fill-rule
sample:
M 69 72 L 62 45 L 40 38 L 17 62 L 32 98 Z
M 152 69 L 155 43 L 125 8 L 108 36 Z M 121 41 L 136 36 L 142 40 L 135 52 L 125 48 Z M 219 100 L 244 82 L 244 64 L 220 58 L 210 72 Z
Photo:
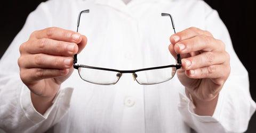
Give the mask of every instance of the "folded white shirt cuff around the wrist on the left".
M 50 113 L 53 113 L 54 110 L 56 111 L 56 107 L 65 107 L 62 109 L 68 110 L 70 107 L 70 100 L 71 100 L 71 95 L 73 93 L 74 88 L 64 88 L 64 89 L 59 89 L 57 92 L 54 100 L 52 101 L 52 106 L 46 110 L 44 115 L 41 113 L 37 112 L 36 109 L 33 106 L 33 103 L 31 101 L 30 97 L 30 90 L 26 85 L 23 85 L 21 94 L 20 94 L 20 105 L 25 113 L 26 117 L 33 123 L 39 123 L 41 121 L 44 121 L 45 119 L 48 118 Z M 63 111 L 67 112 L 67 111 Z

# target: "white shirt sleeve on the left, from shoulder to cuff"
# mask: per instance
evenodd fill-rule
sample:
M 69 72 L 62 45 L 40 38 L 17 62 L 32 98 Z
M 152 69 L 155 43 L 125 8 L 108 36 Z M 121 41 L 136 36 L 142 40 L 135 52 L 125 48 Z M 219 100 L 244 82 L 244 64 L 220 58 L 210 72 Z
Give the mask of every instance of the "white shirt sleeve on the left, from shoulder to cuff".
M 33 31 L 52 26 L 49 6 L 54 5 L 55 1 L 41 3 L 29 14 L 22 30 L 0 60 L 0 128 L 6 132 L 44 132 L 69 109 L 73 88 L 60 88 L 53 105 L 44 115 L 38 113 L 31 103 L 29 89 L 20 79 L 17 63 L 21 43 L 27 41 Z

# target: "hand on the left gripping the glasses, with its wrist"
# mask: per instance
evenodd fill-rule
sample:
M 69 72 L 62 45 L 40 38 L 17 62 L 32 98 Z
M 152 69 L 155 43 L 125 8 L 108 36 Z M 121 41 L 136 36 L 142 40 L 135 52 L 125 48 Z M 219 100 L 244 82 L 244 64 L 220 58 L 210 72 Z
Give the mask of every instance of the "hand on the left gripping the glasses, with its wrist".
M 85 36 L 61 28 L 35 31 L 20 46 L 20 77 L 40 113 L 50 107 L 62 82 L 73 72 L 73 55 L 85 47 Z

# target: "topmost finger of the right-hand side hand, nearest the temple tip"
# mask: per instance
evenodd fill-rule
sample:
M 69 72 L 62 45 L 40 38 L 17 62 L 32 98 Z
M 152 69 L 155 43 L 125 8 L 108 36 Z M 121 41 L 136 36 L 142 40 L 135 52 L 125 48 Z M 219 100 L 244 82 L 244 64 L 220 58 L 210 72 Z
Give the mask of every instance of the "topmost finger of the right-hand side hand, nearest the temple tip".
M 189 38 L 194 38 L 200 34 L 205 34 L 206 36 L 212 37 L 212 34 L 209 31 L 204 31 L 195 27 L 190 27 L 186 30 L 173 34 L 170 37 L 170 41 L 173 45 L 175 45 L 175 43 L 179 41 L 186 40 Z

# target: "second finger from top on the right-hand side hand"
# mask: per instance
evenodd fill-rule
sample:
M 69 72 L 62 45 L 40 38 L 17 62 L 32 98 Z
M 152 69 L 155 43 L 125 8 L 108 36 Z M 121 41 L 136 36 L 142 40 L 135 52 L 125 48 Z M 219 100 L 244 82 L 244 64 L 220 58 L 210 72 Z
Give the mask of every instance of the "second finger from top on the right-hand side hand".
M 225 50 L 225 45 L 221 40 L 214 39 L 210 36 L 199 35 L 176 43 L 174 50 L 179 54 L 195 51 L 223 51 Z

